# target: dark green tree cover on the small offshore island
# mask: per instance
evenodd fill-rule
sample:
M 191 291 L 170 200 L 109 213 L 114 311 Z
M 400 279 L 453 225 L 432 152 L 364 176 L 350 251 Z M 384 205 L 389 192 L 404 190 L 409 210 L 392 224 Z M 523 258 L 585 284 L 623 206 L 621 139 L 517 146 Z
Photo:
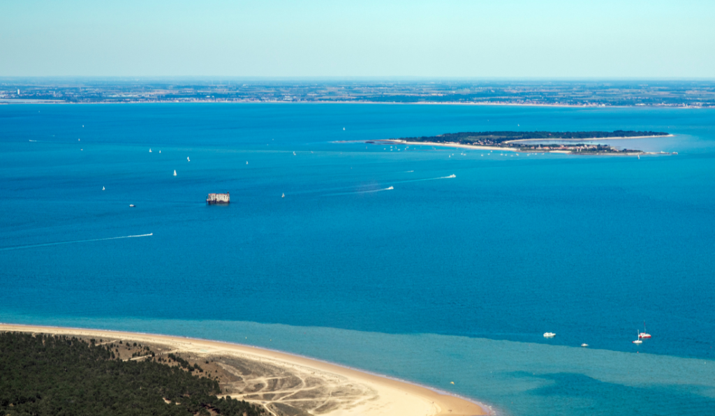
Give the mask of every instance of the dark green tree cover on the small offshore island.
M 599 139 L 603 137 L 666 136 L 666 132 L 636 132 L 616 130 L 614 132 L 461 132 L 439 136 L 403 137 L 407 142 L 436 142 L 463 144 L 502 144 L 510 140 L 525 139 Z

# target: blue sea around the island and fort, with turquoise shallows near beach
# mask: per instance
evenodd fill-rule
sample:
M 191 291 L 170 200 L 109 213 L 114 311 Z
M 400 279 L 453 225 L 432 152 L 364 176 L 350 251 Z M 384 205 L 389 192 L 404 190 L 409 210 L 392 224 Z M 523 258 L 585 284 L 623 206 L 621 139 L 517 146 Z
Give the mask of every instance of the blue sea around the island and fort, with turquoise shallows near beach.
M 678 154 L 335 143 L 536 129 Z M 714 109 L 6 105 L 0 212 L 0 322 L 244 342 L 514 416 L 715 409 Z

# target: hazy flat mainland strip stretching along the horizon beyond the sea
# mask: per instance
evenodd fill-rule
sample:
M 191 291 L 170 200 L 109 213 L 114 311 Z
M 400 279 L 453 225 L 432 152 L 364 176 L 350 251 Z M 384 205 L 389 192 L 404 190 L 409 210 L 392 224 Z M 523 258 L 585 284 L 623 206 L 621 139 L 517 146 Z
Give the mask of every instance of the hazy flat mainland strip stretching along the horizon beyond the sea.
M 0 104 L 372 102 L 715 107 L 715 81 L 0 78 Z

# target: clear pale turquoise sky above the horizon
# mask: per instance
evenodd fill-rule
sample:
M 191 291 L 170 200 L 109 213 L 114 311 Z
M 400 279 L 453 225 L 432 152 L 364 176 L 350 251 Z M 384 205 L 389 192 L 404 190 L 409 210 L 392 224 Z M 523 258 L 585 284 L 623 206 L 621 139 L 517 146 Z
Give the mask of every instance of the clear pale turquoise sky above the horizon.
M 0 0 L 0 76 L 715 78 L 715 1 Z

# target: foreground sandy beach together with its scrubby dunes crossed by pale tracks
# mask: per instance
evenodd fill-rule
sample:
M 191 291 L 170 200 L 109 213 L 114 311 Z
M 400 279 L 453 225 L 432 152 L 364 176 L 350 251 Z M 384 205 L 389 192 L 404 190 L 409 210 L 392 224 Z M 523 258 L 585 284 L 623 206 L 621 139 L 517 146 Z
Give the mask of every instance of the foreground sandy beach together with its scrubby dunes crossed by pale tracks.
M 134 332 L 0 324 L 0 332 L 33 332 L 143 342 L 159 352 L 211 360 L 232 377 L 227 395 L 265 407 L 271 415 L 475 416 L 483 407 L 460 397 L 285 352 L 247 345 Z M 137 358 L 132 358 L 136 360 Z M 262 387 L 256 387 L 262 386 Z M 254 388 L 255 387 L 255 388 Z

